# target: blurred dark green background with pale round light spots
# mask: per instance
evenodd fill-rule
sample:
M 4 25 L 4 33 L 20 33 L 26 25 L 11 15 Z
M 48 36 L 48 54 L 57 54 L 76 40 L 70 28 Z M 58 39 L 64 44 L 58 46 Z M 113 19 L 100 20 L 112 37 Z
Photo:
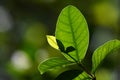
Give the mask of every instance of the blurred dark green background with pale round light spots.
M 54 35 L 57 17 L 69 4 L 88 22 L 90 45 L 84 60 L 88 68 L 99 45 L 120 38 L 120 0 L 0 0 L 0 80 L 53 80 L 60 74 L 55 70 L 41 76 L 38 65 L 63 57 L 49 46 L 46 35 Z M 104 60 L 97 80 L 120 79 L 119 57 L 120 50 Z

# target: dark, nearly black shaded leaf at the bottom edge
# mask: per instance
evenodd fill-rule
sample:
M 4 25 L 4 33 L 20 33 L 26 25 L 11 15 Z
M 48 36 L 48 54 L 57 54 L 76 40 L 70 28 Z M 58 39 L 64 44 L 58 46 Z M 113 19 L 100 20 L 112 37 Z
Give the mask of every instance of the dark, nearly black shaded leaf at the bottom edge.
M 69 70 L 61 73 L 55 80 L 73 80 L 78 76 L 82 71 L 80 70 Z

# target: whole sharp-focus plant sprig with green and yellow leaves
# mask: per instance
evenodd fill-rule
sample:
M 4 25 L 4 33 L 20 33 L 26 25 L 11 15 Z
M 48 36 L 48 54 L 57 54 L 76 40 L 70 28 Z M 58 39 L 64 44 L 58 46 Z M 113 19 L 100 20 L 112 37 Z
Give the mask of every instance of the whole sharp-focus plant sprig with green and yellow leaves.
M 55 36 L 47 35 L 47 40 L 52 47 L 60 50 L 66 59 L 51 58 L 40 63 L 38 69 L 41 74 L 73 63 L 82 69 L 78 75 L 63 80 L 96 80 L 95 72 L 98 66 L 110 52 L 120 48 L 120 41 L 116 39 L 99 46 L 93 52 L 92 70 L 89 71 L 82 64 L 89 44 L 87 22 L 82 13 L 72 5 L 68 5 L 61 11 L 56 24 Z M 69 71 L 60 76 L 65 73 L 69 73 Z M 59 79 L 57 78 L 57 80 Z

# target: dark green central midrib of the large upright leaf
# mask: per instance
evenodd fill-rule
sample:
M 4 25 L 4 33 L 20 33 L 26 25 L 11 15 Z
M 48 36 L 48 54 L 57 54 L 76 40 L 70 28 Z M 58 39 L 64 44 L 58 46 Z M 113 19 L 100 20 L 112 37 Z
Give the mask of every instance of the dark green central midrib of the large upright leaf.
M 68 20 L 69 20 L 69 25 L 70 25 L 70 29 L 71 29 L 71 32 L 72 32 L 72 38 L 73 38 L 73 43 L 74 43 L 74 47 L 75 47 L 75 51 L 76 51 L 76 57 L 79 61 L 79 55 L 78 55 L 78 49 L 77 49 L 77 43 L 75 41 L 75 34 L 74 34 L 74 31 L 73 31 L 73 26 L 72 26 L 72 22 L 71 22 L 71 17 L 70 17 L 70 7 L 68 7 Z

